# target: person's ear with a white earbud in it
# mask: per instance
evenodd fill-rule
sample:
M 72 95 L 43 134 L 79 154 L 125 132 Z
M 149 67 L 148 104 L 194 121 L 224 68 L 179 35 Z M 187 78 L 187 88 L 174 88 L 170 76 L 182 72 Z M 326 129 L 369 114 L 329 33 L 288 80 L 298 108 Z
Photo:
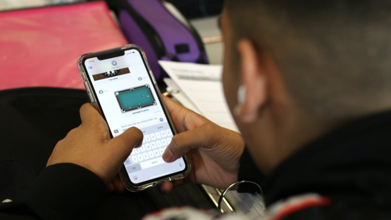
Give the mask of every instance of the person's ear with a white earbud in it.
M 248 39 L 241 39 L 237 43 L 240 55 L 240 74 L 242 87 L 245 87 L 243 103 L 236 116 L 245 123 L 254 122 L 258 113 L 267 100 L 266 76 L 262 71 L 260 54 Z

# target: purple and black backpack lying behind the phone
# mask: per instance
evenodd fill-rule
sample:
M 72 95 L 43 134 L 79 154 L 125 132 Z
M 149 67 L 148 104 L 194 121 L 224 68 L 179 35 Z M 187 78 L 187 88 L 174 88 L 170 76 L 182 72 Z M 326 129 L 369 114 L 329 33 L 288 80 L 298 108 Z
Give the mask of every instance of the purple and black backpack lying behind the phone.
M 128 41 L 145 51 L 156 80 L 167 76 L 158 60 L 208 63 L 197 31 L 171 4 L 162 0 L 124 0 L 113 1 L 113 7 L 110 2 Z

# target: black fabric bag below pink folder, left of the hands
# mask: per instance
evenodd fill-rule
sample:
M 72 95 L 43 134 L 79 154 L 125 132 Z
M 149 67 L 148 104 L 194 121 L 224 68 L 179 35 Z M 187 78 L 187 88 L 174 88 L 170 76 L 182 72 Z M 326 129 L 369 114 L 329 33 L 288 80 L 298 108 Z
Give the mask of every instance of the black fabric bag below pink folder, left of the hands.
M 23 88 L 0 91 L 0 202 L 18 198 L 45 168 L 57 141 L 81 121 L 84 90 Z

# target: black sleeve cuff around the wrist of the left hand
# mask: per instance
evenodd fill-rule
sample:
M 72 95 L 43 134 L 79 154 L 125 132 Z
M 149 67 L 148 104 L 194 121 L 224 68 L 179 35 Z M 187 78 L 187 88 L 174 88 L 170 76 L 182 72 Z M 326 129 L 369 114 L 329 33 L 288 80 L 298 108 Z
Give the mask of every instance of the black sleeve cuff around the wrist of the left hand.
M 0 205 L 0 219 L 82 219 L 106 190 L 88 169 L 72 163 L 51 165 L 21 199 Z

